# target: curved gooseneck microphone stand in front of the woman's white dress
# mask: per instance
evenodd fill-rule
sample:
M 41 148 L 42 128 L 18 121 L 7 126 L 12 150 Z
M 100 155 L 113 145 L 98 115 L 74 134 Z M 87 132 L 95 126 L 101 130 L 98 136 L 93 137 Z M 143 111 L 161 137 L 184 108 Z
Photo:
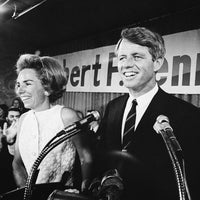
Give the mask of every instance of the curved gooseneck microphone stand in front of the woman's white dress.
M 45 158 L 45 156 L 56 146 L 58 146 L 65 140 L 71 138 L 72 136 L 76 135 L 80 131 L 81 131 L 81 129 L 66 131 L 66 133 L 68 133 L 68 134 L 64 134 L 61 136 L 60 136 L 60 134 L 57 134 L 45 145 L 45 147 L 43 148 L 43 150 L 40 152 L 39 156 L 33 163 L 30 174 L 27 178 L 26 185 L 25 185 L 25 191 L 24 191 L 24 198 L 23 198 L 24 200 L 31 199 L 31 195 L 32 195 L 32 191 L 33 191 L 32 187 L 33 187 L 33 184 L 36 182 L 37 175 L 38 175 L 37 169 L 38 169 L 38 166 L 40 165 L 40 163 L 42 162 L 42 160 Z M 58 138 L 58 137 L 60 137 L 60 138 Z M 56 140 L 56 141 L 54 141 L 54 140 Z

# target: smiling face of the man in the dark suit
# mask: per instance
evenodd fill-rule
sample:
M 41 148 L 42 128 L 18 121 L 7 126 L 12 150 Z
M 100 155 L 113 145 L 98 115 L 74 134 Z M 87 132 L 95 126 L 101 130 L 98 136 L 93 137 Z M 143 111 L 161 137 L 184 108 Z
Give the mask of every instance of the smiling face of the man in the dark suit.
M 123 39 L 118 49 L 118 71 L 130 91 L 143 94 L 151 90 L 155 81 L 155 62 L 148 47 Z

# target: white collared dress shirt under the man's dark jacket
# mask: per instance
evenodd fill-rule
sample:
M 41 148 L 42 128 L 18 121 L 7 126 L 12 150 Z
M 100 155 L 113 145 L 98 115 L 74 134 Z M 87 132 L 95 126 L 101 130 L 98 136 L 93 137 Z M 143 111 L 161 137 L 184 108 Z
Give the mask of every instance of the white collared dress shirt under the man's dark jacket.
M 136 99 L 137 106 L 136 106 L 136 120 L 135 120 L 135 129 L 137 128 L 142 116 L 144 115 L 147 107 L 149 106 L 151 100 L 153 99 L 154 95 L 158 92 L 158 85 L 156 84 L 155 87 L 147 92 L 146 94 L 143 94 L 140 97 L 135 98 L 129 93 L 129 98 L 126 103 L 126 107 L 124 110 L 123 120 L 122 120 L 122 130 L 121 130 L 121 138 L 123 139 L 123 132 L 124 132 L 124 126 L 125 121 L 127 118 L 127 115 L 131 109 L 132 101 Z

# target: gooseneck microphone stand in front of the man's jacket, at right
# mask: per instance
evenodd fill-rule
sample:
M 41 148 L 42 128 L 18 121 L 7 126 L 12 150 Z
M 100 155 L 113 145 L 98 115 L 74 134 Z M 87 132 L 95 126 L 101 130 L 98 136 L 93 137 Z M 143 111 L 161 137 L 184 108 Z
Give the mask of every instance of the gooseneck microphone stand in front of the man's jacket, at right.
M 170 155 L 173 164 L 180 200 L 191 200 L 185 176 L 185 165 L 182 156 L 182 149 L 180 145 L 177 143 L 177 141 L 175 140 L 173 141 L 172 137 L 170 138 L 170 131 L 165 129 L 165 130 L 160 130 L 159 133 L 161 134 L 165 142 L 165 145 L 167 147 L 168 153 Z M 182 166 L 180 165 L 179 161 L 182 162 Z

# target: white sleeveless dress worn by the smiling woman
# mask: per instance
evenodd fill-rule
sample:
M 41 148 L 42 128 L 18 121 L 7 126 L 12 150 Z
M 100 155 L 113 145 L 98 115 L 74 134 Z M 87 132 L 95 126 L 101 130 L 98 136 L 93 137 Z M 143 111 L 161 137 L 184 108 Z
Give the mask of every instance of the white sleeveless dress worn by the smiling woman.
M 45 111 L 27 112 L 19 133 L 19 151 L 28 174 L 47 142 L 64 128 L 62 108 L 56 105 Z M 70 139 L 59 144 L 40 163 L 36 183 L 60 182 L 63 173 L 68 172 L 71 176 L 65 184 L 73 186 L 75 155 L 76 149 Z

